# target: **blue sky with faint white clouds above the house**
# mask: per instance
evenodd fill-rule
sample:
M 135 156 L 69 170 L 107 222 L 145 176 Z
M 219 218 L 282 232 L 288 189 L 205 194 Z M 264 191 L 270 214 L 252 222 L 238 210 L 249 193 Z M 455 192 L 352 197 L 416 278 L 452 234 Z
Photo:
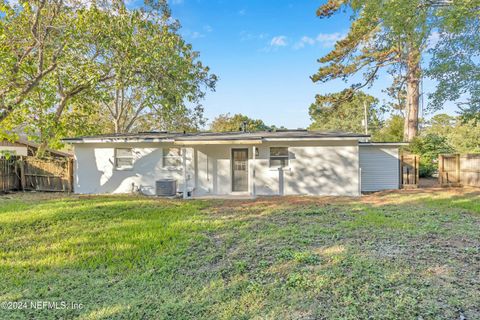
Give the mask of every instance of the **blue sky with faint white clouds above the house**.
M 315 94 L 337 92 L 342 81 L 314 84 L 317 59 L 349 28 L 348 14 L 320 20 L 319 0 L 170 0 L 181 33 L 219 76 L 203 104 L 209 120 L 243 113 L 267 124 L 305 128 Z M 382 75 L 366 91 L 380 100 L 390 83 Z M 425 82 L 426 90 L 432 88 Z M 453 113 L 453 110 L 449 113 Z

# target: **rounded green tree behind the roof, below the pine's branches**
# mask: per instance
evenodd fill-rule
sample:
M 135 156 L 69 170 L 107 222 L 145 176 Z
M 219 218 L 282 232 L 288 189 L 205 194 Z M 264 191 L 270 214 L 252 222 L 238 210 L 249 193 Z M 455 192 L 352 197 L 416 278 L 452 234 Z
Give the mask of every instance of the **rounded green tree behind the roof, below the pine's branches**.
M 372 133 L 381 126 L 379 115 L 382 109 L 378 106 L 377 99 L 361 91 L 350 93 L 349 90 L 317 95 L 315 103 L 309 110 L 313 121 L 309 129 L 363 133 L 365 132 L 365 107 L 369 133 Z

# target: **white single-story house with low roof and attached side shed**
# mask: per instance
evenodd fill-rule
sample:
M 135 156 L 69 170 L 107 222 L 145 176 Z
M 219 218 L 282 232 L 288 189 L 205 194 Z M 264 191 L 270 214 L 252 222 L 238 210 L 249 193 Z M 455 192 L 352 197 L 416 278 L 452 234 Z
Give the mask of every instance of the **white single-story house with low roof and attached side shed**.
M 400 188 L 402 143 L 368 135 L 277 130 L 145 132 L 64 139 L 80 194 L 347 195 Z M 167 188 L 167 189 L 165 189 Z

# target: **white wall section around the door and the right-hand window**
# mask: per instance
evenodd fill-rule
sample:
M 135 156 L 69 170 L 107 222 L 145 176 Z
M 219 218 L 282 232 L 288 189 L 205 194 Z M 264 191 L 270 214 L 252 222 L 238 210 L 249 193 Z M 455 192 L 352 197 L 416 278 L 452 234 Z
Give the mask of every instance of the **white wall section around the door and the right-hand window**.
M 270 168 L 270 147 L 289 148 L 289 166 L 279 172 Z M 232 190 L 231 150 L 248 148 L 249 192 L 257 195 L 358 195 L 357 141 L 266 142 L 256 145 L 258 156 L 253 160 L 253 145 L 195 146 L 197 184 L 195 195 L 224 195 Z M 255 179 L 253 179 L 255 166 Z

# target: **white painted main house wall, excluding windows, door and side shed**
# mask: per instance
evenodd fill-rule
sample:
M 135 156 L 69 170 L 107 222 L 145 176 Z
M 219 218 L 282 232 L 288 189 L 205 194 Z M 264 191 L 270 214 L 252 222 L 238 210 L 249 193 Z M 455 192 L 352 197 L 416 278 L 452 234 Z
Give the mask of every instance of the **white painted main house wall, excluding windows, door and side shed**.
M 279 172 L 270 168 L 270 147 L 289 148 L 289 165 Z M 75 145 L 76 193 L 130 193 L 141 188 L 155 193 L 155 181 L 177 179 L 183 189 L 183 171 L 163 168 L 162 148 L 178 147 L 166 143 L 98 143 Z M 232 148 L 248 148 L 249 193 L 278 195 L 283 175 L 285 195 L 359 195 L 359 160 L 356 140 L 264 142 L 256 145 L 187 146 L 188 190 L 195 196 L 232 193 Z M 114 149 L 133 148 L 135 160 L 130 170 L 114 168 Z M 255 166 L 255 179 L 253 167 Z M 196 170 L 195 170 L 196 168 Z

